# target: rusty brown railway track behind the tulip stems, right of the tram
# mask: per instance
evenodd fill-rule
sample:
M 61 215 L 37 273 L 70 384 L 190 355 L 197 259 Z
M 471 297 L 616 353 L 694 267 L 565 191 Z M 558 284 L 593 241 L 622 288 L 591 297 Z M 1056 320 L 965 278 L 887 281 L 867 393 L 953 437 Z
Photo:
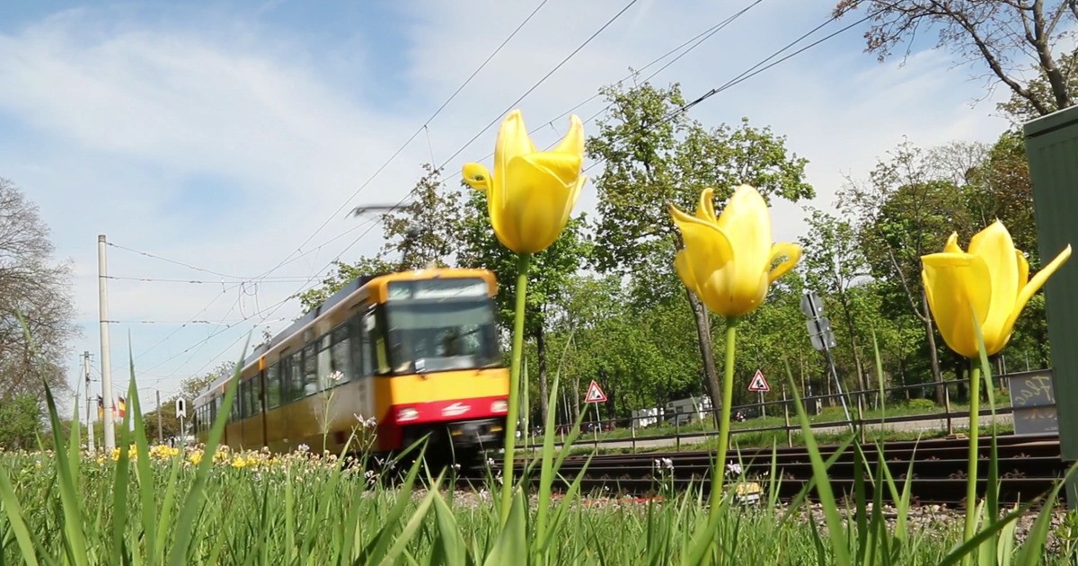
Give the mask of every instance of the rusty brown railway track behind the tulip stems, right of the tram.
M 983 496 L 987 486 L 987 463 L 991 453 L 990 439 L 982 438 L 979 452 L 980 489 Z M 997 439 L 999 500 L 1005 503 L 1025 502 L 1048 493 L 1066 472 L 1066 466 L 1060 457 L 1058 436 L 1003 436 Z M 820 446 L 825 460 L 831 457 L 837 446 Z M 874 474 L 877 467 L 879 450 L 874 444 L 862 444 L 861 450 L 868 458 L 868 473 Z M 901 488 L 912 460 L 911 496 L 915 505 L 945 505 L 950 508 L 963 508 L 966 493 L 966 470 L 968 461 L 968 440 L 944 439 L 925 441 L 889 442 L 883 447 L 884 461 L 892 477 Z M 728 461 L 740 463 L 745 478 L 760 483 L 764 491 L 769 488 L 774 454 L 775 475 L 778 482 L 780 499 L 794 497 L 812 478 L 812 464 L 803 447 L 779 447 L 774 450 L 749 448 L 734 452 Z M 566 458 L 561 475 L 565 481 L 556 481 L 554 488 L 565 491 L 567 482 L 571 482 L 582 471 L 583 492 L 596 489 L 610 494 L 648 496 L 665 489 L 686 489 L 690 485 L 708 491 L 710 485 L 711 458 L 707 452 L 664 452 L 646 454 L 611 454 L 596 455 L 584 470 L 585 457 Z M 829 468 L 831 486 L 837 496 L 852 494 L 854 491 L 855 466 L 858 459 L 854 446 L 848 446 Z M 524 468 L 524 461 L 517 460 L 515 466 L 519 478 Z M 538 485 L 539 467 L 534 467 L 533 483 Z M 497 473 L 497 468 L 492 470 Z M 479 478 L 465 478 L 465 485 L 475 485 L 482 482 Z M 869 496 L 873 486 L 871 478 L 866 477 L 866 491 Z M 812 494 L 810 494 L 812 496 Z M 889 500 L 890 494 L 884 493 L 884 500 Z

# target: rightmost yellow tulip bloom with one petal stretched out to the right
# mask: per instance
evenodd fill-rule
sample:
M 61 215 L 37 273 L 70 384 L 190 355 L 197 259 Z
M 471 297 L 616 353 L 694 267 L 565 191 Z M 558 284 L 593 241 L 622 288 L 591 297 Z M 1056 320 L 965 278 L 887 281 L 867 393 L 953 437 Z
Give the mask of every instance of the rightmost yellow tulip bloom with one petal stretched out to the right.
M 941 253 L 921 258 L 921 279 L 928 307 L 943 341 L 966 358 L 980 356 L 973 317 L 981 327 L 989 356 L 1007 345 L 1026 302 L 1070 257 L 1067 246 L 1029 279 L 1029 263 L 1003 222 L 996 220 L 969 240 L 969 251 L 951 234 Z

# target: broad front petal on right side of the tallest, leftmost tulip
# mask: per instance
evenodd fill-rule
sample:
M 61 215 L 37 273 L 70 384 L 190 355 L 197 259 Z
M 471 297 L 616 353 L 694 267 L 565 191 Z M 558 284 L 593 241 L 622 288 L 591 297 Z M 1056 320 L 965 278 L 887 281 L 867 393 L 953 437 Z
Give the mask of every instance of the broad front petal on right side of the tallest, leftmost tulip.
M 517 253 L 536 253 L 550 247 L 565 229 L 568 211 L 580 196 L 579 155 L 533 153 L 519 155 L 506 169 L 506 224 L 516 237 L 502 241 Z

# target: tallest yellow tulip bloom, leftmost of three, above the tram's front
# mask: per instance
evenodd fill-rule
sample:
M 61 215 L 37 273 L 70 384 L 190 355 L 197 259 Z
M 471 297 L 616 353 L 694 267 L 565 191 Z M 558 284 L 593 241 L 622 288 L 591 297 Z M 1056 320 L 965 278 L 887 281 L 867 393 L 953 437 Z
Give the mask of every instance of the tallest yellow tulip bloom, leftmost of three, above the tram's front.
M 486 192 L 490 225 L 516 253 L 550 247 L 569 221 L 585 177 L 584 127 L 576 115 L 553 151 L 536 151 L 520 110 L 501 123 L 494 150 L 494 175 L 479 163 L 464 166 L 465 182 Z

